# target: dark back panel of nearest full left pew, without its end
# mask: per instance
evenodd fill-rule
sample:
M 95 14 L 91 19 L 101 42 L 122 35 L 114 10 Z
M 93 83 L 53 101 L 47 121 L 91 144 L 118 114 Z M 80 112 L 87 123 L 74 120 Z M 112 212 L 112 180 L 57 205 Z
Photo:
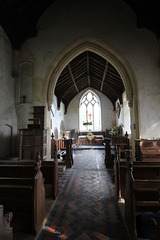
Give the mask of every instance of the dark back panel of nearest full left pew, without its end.
M 33 229 L 34 187 L 32 179 L 0 178 L 0 202 L 13 213 L 11 226 L 15 230 Z

